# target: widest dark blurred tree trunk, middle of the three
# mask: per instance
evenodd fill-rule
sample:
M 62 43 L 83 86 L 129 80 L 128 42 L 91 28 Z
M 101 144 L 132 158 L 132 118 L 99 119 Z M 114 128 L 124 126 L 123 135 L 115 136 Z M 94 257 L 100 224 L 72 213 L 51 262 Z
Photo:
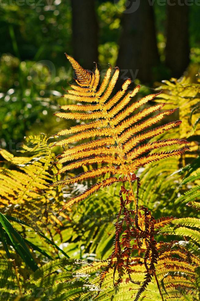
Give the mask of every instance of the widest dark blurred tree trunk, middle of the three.
M 129 8 L 123 14 L 117 66 L 126 69 L 124 76 L 126 72 L 132 80 L 150 82 L 153 68 L 159 65 L 154 10 L 149 1 L 140 1 L 139 5 L 137 2 L 127 1 Z

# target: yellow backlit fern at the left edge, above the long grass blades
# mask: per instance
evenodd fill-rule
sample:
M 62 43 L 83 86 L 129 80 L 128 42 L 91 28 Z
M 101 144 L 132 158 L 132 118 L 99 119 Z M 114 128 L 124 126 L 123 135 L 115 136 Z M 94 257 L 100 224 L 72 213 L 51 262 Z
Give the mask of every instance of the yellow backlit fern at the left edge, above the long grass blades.
M 37 229 L 46 225 L 61 225 L 56 216 L 57 201 L 61 190 L 52 189 L 50 162 L 54 153 L 49 148 L 49 139 L 44 134 L 29 136 L 18 156 L 1 149 L 0 207 L 1 212 L 17 217 Z

